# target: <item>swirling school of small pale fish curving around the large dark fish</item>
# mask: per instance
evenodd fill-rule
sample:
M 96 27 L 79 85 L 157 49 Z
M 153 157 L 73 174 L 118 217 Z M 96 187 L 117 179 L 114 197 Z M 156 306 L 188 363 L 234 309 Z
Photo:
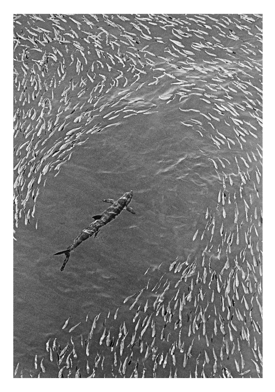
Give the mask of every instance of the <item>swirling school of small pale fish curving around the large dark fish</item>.
M 15 227 L 75 147 L 172 101 L 221 185 L 187 258 L 147 270 L 117 310 L 69 318 L 15 377 L 262 377 L 261 26 L 258 14 L 14 16 Z

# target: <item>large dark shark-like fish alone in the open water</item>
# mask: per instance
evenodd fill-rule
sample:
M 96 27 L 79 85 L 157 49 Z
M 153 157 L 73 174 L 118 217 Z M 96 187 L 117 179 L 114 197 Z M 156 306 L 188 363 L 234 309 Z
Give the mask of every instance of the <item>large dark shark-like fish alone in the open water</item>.
M 57 252 L 54 254 L 65 254 L 66 259 L 63 262 L 63 265 L 61 267 L 61 271 L 65 268 L 65 265 L 67 264 L 67 261 L 69 260 L 70 257 L 70 252 L 74 250 L 78 245 L 81 244 L 81 242 L 87 240 L 87 238 L 91 237 L 93 234 L 95 237 L 97 236 L 100 228 L 107 223 L 109 223 L 111 220 L 115 219 L 116 216 L 120 214 L 122 210 L 126 210 L 131 212 L 132 214 L 135 214 L 135 211 L 131 208 L 128 207 L 130 201 L 132 200 L 133 197 L 133 191 L 125 192 L 121 198 L 119 198 L 117 201 L 113 199 L 104 199 L 106 203 L 111 203 L 111 206 L 108 207 L 106 210 L 102 212 L 101 215 L 95 215 L 93 216 L 94 221 L 90 223 L 90 225 L 82 230 L 81 234 L 77 236 L 74 240 L 74 242 L 68 246 L 66 250 L 62 250 L 61 252 Z

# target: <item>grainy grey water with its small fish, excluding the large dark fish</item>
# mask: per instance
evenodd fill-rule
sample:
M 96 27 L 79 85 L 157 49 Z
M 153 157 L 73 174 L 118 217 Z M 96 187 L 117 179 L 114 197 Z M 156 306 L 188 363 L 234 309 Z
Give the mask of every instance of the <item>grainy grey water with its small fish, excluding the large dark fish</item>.
M 15 377 L 262 377 L 261 49 L 255 14 L 14 15 Z

